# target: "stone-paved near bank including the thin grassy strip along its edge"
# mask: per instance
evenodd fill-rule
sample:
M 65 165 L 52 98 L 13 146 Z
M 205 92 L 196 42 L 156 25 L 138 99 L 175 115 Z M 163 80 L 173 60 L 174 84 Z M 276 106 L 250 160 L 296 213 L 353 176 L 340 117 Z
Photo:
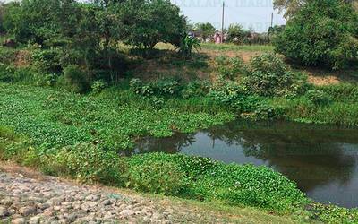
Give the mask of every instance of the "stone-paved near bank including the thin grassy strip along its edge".
M 29 168 L 0 165 L 0 223 L 298 223 L 253 208 L 138 194 L 102 185 L 79 185 Z

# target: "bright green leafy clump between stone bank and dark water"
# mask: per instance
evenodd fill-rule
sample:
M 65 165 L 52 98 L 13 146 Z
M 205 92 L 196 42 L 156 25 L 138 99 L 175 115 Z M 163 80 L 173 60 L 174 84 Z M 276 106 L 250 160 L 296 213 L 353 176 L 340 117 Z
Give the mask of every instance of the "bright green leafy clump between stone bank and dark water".
M 208 201 L 218 199 L 230 204 L 251 205 L 280 212 L 291 211 L 296 205 L 307 202 L 293 182 L 269 168 L 226 165 L 211 159 L 179 154 L 145 154 L 127 160 L 130 170 L 141 170 L 141 175 L 136 174 L 140 185 L 150 185 L 152 181 L 157 181 L 158 176 L 170 181 L 176 179 L 177 183 L 172 184 L 176 194 L 172 195 Z M 155 166 L 141 168 L 144 164 Z M 165 171 L 158 168 L 160 166 L 173 173 L 174 177 L 168 177 Z M 159 175 L 150 177 L 154 169 Z M 145 171 L 149 174 L 144 174 Z M 183 183 L 186 183 L 185 187 Z

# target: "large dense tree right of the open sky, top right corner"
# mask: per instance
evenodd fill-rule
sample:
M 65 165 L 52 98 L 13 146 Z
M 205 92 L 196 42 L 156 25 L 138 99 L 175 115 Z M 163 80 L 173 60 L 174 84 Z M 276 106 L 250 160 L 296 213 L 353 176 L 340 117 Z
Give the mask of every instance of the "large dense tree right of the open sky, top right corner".
M 303 65 L 339 69 L 358 59 L 358 13 L 340 0 L 311 0 L 274 40 L 277 52 Z

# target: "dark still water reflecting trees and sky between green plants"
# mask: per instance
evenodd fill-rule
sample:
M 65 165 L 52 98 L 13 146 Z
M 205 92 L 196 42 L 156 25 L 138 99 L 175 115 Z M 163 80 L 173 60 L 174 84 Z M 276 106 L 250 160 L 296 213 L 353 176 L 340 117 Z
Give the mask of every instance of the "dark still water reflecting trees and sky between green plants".
M 144 138 L 132 153 L 154 151 L 268 166 L 316 202 L 358 207 L 358 129 L 235 121 L 196 134 Z

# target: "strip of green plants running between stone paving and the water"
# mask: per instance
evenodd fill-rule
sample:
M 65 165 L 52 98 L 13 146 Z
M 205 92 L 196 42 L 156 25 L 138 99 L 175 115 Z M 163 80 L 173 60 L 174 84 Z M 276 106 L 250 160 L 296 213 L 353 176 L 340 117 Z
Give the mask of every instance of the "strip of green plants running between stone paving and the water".
M 0 159 L 39 168 L 87 183 L 130 187 L 142 192 L 250 206 L 295 214 L 294 220 L 354 223 L 357 210 L 313 204 L 292 181 L 277 172 L 252 165 L 226 165 L 211 159 L 184 155 L 146 154 L 120 158 L 98 144 L 83 143 L 44 151 L 13 131 L 0 128 Z M 305 208 L 309 208 L 308 210 Z

